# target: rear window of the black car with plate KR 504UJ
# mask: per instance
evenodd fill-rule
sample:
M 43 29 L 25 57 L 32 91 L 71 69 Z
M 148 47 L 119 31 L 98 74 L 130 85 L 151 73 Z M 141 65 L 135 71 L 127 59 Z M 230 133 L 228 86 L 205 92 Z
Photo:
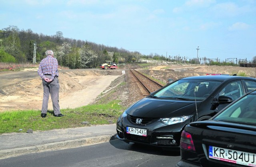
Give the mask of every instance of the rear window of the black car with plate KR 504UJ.
M 230 105 L 219 115 L 214 117 L 214 121 L 226 121 L 232 123 L 242 123 L 256 125 L 256 94 L 249 94 Z

